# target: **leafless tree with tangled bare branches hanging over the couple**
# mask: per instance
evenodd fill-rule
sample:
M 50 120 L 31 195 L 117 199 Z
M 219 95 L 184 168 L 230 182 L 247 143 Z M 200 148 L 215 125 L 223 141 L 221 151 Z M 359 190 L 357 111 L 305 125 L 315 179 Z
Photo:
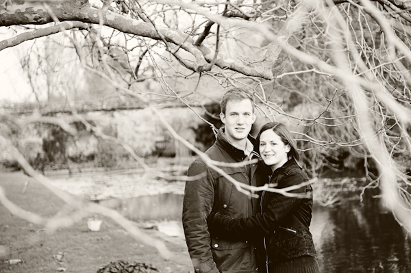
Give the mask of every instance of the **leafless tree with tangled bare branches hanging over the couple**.
M 301 149 L 316 159 L 313 173 L 327 164 L 326 153 L 334 155 L 339 148 L 375 161 L 378 171 L 369 174 L 371 183 L 379 185 L 399 223 L 411 230 L 406 191 L 410 1 L 0 1 L 0 26 L 15 30 L 15 36 L 0 41 L 0 51 L 58 37 L 77 73 L 110 86 L 102 92 L 150 108 L 176 140 L 201 157 L 164 121 L 158 102 L 177 100 L 191 108 L 221 94 L 212 89 L 250 88 L 262 116 L 295 125 Z M 64 65 L 58 70 L 73 72 Z M 67 82 L 56 88 L 73 105 L 75 90 Z M 51 122 L 75 134 L 64 120 Z M 12 147 L 8 135 L 1 140 Z M 12 152 L 47 184 L 18 151 Z M 134 158 L 149 170 L 142 158 Z

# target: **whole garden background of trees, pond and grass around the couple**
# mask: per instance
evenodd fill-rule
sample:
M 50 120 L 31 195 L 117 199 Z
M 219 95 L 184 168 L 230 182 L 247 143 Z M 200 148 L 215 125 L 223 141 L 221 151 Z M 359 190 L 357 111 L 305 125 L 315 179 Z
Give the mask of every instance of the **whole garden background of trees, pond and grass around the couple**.
M 410 8 L 0 0 L 0 272 L 192 272 L 185 174 L 233 87 L 297 140 L 321 271 L 410 272 Z

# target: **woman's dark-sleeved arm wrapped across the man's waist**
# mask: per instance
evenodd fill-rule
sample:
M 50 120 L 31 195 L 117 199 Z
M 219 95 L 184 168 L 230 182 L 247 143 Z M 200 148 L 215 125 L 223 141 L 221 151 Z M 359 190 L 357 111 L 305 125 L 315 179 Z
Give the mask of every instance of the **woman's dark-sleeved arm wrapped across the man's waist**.
M 292 185 L 299 185 L 305 182 L 304 177 L 299 172 L 292 172 L 284 175 L 281 184 L 277 188 L 290 187 Z M 293 194 L 306 194 L 306 187 L 299 187 L 295 190 L 289 191 Z M 236 237 L 253 239 L 253 237 L 260 237 L 275 229 L 277 222 L 295 209 L 301 198 L 284 196 L 283 194 L 266 192 L 262 197 L 264 202 L 268 202 L 268 206 L 262 213 L 249 218 L 230 219 L 219 213 L 212 213 L 208 218 L 209 229 L 221 237 Z M 269 200 L 266 200 L 269 198 Z

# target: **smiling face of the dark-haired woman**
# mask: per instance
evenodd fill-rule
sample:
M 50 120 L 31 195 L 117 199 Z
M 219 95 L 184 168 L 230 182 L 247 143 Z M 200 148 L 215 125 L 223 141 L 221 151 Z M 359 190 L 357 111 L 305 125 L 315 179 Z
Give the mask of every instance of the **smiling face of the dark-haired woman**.
M 260 155 L 264 163 L 275 170 L 288 161 L 290 145 L 284 144 L 277 133 L 268 129 L 260 135 Z

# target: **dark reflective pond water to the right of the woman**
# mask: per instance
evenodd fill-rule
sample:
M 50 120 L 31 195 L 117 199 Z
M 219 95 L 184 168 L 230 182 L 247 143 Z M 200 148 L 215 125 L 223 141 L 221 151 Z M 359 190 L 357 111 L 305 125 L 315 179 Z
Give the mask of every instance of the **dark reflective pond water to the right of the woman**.
M 314 210 L 314 219 L 326 212 L 331 220 L 317 241 L 323 272 L 411 272 L 410 234 L 378 200 L 366 204 Z

